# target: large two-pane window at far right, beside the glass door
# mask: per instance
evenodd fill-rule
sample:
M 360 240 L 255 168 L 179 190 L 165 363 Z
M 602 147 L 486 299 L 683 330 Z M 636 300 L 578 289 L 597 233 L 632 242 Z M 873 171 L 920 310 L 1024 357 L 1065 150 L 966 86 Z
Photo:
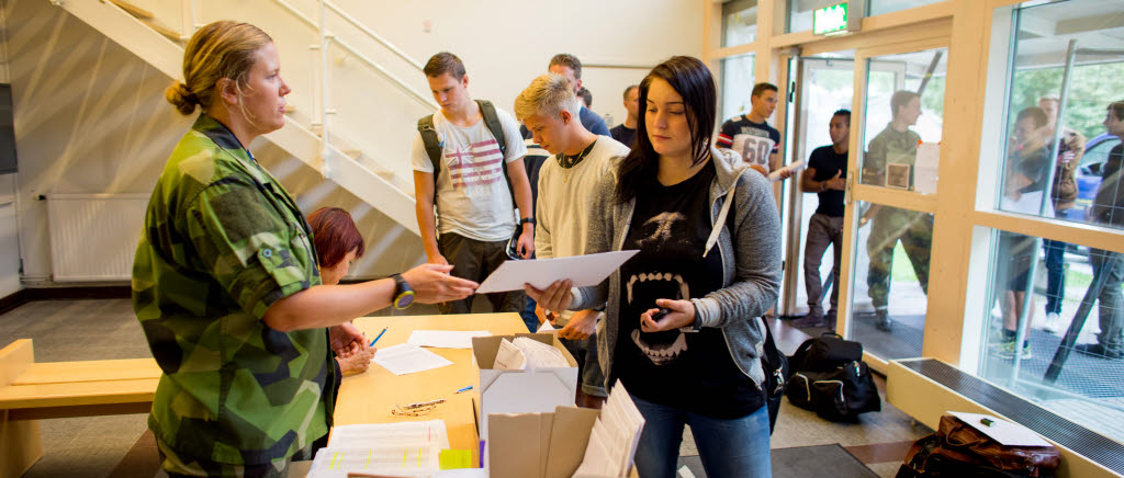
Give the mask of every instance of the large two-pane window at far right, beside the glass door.
M 979 203 L 1017 219 L 978 229 L 990 245 L 987 294 L 968 311 L 981 318 L 978 343 L 964 347 L 980 376 L 1124 441 L 1124 248 L 1084 243 L 1090 223 L 1124 228 L 1124 0 L 1013 11 L 995 20 L 992 43 L 1009 48 L 991 64 L 1007 83 L 988 99 L 1003 118 L 985 120 Z M 1007 230 L 1019 223 L 1050 226 L 1055 240 Z

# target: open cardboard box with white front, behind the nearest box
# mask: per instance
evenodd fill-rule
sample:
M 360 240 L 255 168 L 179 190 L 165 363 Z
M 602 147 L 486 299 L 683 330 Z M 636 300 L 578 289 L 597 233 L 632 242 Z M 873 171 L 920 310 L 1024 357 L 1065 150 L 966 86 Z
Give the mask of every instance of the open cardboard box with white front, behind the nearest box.
M 569 367 L 538 368 L 535 371 L 497 370 L 496 352 L 504 339 L 527 337 L 562 351 Z M 480 370 L 475 389 L 480 393 L 477 404 L 477 423 L 480 440 L 488 442 L 488 416 L 493 413 L 554 412 L 558 406 L 573 406 L 578 393 L 578 362 L 551 333 L 518 333 L 515 335 L 477 337 L 472 339 L 472 365 Z

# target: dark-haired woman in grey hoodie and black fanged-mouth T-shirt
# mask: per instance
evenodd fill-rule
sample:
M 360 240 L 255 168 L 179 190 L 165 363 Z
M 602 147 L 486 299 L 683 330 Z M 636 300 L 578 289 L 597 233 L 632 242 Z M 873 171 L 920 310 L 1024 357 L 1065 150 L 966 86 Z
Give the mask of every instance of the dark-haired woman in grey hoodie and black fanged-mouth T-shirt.
M 717 94 L 697 58 L 677 56 L 640 86 L 636 143 L 598 185 L 589 252 L 640 252 L 593 287 L 527 293 L 551 310 L 607 303 L 598 350 L 644 416 L 643 477 L 674 476 L 690 425 L 708 476 L 768 477 L 769 413 L 759 318 L 780 287 L 780 220 L 769 182 L 710 146 Z M 661 314 L 661 312 L 663 312 Z

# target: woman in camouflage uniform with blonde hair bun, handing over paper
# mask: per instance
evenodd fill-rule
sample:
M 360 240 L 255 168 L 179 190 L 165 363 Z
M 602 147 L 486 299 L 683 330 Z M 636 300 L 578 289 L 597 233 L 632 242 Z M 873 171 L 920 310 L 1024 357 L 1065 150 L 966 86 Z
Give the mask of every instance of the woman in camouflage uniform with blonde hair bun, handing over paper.
M 284 126 L 272 39 L 216 21 L 188 43 L 167 89 L 202 113 L 153 190 L 133 265 L 133 304 L 163 374 L 148 426 L 169 476 L 283 476 L 332 425 L 341 323 L 390 305 L 463 298 L 477 284 L 423 265 L 320 285 L 308 222 L 244 145 Z

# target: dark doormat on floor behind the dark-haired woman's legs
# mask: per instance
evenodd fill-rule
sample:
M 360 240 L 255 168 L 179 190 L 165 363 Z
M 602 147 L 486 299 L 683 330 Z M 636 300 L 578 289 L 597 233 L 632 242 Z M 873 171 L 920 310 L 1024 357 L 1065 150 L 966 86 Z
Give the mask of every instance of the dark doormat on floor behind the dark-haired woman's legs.
M 847 453 L 839 443 L 771 450 L 773 478 L 878 478 L 878 474 Z M 687 467 L 696 478 L 706 477 L 698 456 L 679 457 L 676 469 Z

